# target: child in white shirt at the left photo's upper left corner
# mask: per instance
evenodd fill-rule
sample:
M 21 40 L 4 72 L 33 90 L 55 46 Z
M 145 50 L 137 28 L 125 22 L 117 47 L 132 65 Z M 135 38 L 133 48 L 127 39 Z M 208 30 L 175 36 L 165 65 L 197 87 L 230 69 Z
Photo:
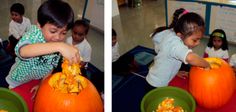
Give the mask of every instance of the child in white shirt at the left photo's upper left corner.
M 15 3 L 10 8 L 11 22 L 9 24 L 9 41 L 7 51 L 15 56 L 14 48 L 23 36 L 23 34 L 30 29 L 30 20 L 24 17 L 25 9 L 20 3 Z

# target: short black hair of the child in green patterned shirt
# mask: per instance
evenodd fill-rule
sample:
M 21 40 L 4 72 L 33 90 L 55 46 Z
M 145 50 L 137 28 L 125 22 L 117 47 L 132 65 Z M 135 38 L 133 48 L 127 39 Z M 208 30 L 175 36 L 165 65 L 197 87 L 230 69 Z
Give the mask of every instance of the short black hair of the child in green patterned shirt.
M 61 28 L 66 26 L 69 30 L 74 22 L 74 12 L 70 5 L 62 0 L 45 1 L 38 9 L 38 23 L 44 26 L 46 23 Z

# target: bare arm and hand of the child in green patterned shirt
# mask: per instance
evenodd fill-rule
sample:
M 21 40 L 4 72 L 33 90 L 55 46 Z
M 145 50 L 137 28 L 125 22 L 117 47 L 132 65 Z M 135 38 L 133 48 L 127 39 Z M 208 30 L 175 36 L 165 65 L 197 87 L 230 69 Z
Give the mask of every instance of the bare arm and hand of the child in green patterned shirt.
M 63 42 L 37 43 L 22 46 L 19 50 L 21 57 L 30 58 L 60 52 L 70 63 L 80 61 L 79 51 L 76 47 Z

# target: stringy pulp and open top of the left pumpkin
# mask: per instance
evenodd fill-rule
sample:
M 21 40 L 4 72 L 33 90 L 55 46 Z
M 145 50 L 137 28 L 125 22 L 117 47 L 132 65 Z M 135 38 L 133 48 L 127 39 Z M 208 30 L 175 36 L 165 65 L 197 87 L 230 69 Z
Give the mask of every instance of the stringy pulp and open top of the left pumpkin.
M 69 61 L 64 60 L 61 67 L 62 72 L 53 74 L 48 81 L 52 88 L 62 93 L 78 94 L 87 86 L 86 80 L 81 76 L 79 63 L 69 65 Z

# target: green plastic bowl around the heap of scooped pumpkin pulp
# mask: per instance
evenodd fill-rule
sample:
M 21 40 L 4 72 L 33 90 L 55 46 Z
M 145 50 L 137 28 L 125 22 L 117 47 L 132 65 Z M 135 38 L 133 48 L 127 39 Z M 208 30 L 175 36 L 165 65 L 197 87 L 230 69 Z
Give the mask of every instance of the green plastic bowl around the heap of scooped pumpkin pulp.
M 157 106 L 166 98 L 174 98 L 174 106 L 180 106 L 185 112 L 195 112 L 196 103 L 192 95 L 177 87 L 160 87 L 148 92 L 142 99 L 141 112 L 155 112 Z

